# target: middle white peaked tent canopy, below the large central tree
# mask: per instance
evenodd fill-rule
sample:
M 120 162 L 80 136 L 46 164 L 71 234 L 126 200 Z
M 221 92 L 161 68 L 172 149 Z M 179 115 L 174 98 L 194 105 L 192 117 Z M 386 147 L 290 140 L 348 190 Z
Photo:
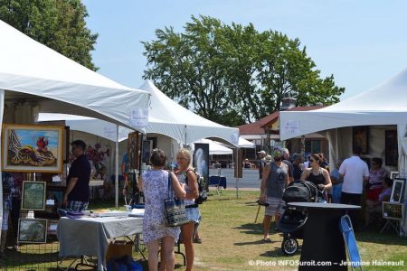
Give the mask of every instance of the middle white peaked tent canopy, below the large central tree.
M 200 117 L 168 98 L 147 80 L 140 89 L 151 94 L 147 133 L 168 135 L 185 145 L 205 137 L 217 137 L 238 145 L 239 129 Z

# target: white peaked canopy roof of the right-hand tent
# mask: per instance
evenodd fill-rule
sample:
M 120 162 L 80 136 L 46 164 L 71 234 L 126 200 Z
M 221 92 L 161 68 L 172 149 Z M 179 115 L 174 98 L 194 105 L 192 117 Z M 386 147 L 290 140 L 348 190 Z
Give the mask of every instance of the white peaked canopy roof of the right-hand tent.
M 399 176 L 407 177 L 407 69 L 383 82 L 330 107 L 312 111 L 282 111 L 279 114 L 280 139 L 346 126 L 396 125 L 399 148 Z M 333 133 L 331 133 L 333 134 Z M 337 136 L 332 136 L 336 137 Z M 349 138 L 351 141 L 351 139 Z M 330 149 L 333 148 L 329 142 Z M 407 198 L 407 190 L 404 199 Z M 406 208 L 407 210 L 407 208 Z M 404 232 L 407 232 L 407 213 Z

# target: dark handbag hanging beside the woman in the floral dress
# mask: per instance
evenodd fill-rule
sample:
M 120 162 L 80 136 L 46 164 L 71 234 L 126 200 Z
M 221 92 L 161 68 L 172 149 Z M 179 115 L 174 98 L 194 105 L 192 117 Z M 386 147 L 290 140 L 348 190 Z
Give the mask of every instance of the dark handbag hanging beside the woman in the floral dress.
M 174 197 L 171 173 L 168 173 L 168 199 L 164 200 L 166 207 L 166 227 L 178 227 L 188 223 L 183 200 Z

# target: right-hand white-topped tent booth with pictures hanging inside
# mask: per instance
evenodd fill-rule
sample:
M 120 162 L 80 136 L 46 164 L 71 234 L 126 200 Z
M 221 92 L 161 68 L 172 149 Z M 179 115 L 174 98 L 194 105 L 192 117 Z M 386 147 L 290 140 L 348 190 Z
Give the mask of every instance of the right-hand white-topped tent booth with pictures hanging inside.
M 379 86 L 355 97 L 317 110 L 282 111 L 279 115 L 280 139 L 309 133 L 325 133 L 329 141 L 329 162 L 335 167 L 337 158 L 352 154 L 352 146 L 363 149 L 362 158 L 383 158 L 388 172 L 396 171 L 402 179 L 398 187 L 405 207 L 407 193 L 407 69 Z M 392 176 L 394 176 L 392 174 Z M 400 214 L 403 232 L 407 232 L 406 208 Z

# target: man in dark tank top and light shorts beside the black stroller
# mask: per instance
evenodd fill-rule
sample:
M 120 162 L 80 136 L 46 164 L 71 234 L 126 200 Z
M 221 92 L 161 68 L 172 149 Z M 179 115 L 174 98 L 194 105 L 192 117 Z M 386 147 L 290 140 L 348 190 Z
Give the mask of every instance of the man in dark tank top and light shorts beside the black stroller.
M 283 152 L 275 148 L 271 153 L 273 157 L 270 164 L 266 164 L 261 178 L 260 202 L 267 202 L 263 219 L 263 241 L 271 242 L 269 236 L 271 217 L 274 216 L 277 225 L 279 217 L 284 212 L 285 203 L 282 195 L 289 184 L 289 167 L 282 162 Z

